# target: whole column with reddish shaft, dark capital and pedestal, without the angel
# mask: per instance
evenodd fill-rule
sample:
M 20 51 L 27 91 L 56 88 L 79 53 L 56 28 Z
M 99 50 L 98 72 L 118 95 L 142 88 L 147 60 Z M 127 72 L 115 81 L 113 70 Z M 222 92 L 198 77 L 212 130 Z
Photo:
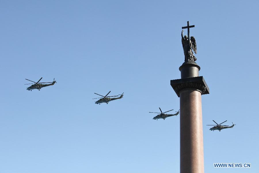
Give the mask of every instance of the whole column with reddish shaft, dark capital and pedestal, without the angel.
M 181 79 L 171 80 L 180 97 L 180 173 L 204 173 L 201 94 L 209 94 L 194 61 L 180 66 Z

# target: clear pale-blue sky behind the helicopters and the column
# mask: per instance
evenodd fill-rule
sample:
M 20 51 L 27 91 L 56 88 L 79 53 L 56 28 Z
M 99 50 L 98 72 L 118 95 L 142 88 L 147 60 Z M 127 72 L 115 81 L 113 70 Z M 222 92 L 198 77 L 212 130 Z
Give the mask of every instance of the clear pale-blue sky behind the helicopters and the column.
M 258 172 L 258 6 L 0 1 L 0 172 L 179 172 L 179 116 L 148 112 L 179 109 L 170 80 L 180 78 L 186 21 L 210 88 L 202 96 L 205 172 Z M 26 90 L 25 78 L 41 77 L 57 83 Z M 94 92 L 110 90 L 125 95 L 94 104 Z M 237 125 L 209 131 L 212 120 Z

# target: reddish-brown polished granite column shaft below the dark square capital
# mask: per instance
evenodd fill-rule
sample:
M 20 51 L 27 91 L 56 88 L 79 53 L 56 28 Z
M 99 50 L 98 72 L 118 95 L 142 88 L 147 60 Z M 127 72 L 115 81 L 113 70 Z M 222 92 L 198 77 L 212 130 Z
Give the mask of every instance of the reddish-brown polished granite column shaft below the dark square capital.
M 201 92 L 180 92 L 180 172 L 203 173 L 203 131 Z

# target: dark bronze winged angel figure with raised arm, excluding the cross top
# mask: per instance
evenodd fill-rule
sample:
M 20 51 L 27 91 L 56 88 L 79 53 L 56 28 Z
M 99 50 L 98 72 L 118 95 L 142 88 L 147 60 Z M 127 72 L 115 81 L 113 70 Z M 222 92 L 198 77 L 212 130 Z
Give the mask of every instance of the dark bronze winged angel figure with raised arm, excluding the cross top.
M 196 57 L 193 55 L 193 51 L 197 54 L 196 41 L 193 36 L 191 36 L 191 41 L 189 41 L 188 36 L 183 36 L 182 30 L 182 48 L 184 49 L 184 61 L 193 60 L 196 61 Z M 193 51 L 192 51 L 193 49 Z

